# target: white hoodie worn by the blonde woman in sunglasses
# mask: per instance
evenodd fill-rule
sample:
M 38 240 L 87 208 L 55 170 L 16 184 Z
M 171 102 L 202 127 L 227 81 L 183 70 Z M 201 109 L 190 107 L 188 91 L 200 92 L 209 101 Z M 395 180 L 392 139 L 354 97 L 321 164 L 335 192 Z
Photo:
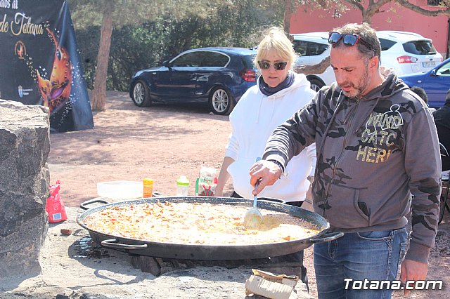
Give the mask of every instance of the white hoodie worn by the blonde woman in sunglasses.
M 235 161 L 227 171 L 233 180 L 234 190 L 244 198 L 252 198 L 255 189 L 250 185 L 250 167 L 257 157 L 262 157 L 266 140 L 274 129 L 290 119 L 297 110 L 306 105 L 316 92 L 311 90 L 304 74 L 295 74 L 291 86 L 274 95 L 264 95 L 259 90 L 259 80 L 240 98 L 230 114 L 231 134 L 226 146 L 226 157 Z M 267 186 L 259 197 L 273 197 L 284 201 L 302 201 L 309 188 L 308 175 L 314 175 L 316 145 L 305 148 L 289 161 L 281 179 Z

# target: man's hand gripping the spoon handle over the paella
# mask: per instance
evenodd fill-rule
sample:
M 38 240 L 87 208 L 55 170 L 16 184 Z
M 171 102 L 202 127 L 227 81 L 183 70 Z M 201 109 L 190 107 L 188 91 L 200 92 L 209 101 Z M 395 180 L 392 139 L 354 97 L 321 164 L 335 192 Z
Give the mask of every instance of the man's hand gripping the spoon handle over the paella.
M 280 178 L 281 173 L 281 167 L 274 162 L 266 160 L 257 161 L 250 168 L 250 184 L 255 186 L 256 182 L 259 180 L 258 187 L 256 187 L 252 193 L 257 195 L 264 187 L 274 185 L 276 180 Z

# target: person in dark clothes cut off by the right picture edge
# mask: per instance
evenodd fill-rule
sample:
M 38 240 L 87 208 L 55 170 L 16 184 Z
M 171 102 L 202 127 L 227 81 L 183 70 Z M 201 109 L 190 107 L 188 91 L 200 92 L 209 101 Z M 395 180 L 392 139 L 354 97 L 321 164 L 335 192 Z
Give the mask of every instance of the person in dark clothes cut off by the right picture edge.
M 444 145 L 447 151 L 450 151 L 450 89 L 447 91 L 444 106 L 433 112 L 435 124 L 437 128 L 437 135 L 439 142 Z M 449 157 L 442 156 L 442 171 L 450 169 Z

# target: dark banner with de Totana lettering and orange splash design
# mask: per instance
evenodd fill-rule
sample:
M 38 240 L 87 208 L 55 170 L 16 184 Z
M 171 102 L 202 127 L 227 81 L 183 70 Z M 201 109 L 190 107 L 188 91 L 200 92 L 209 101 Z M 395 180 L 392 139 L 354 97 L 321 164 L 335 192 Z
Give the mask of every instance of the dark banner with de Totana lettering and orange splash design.
M 50 109 L 52 131 L 94 128 L 65 0 L 0 0 L 0 98 Z

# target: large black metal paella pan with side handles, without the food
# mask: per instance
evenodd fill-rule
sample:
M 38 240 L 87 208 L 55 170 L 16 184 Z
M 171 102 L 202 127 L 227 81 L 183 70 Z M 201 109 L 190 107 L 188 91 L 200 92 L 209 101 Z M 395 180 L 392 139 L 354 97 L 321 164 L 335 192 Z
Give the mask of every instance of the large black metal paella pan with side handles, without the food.
M 207 204 L 224 204 L 231 207 L 234 206 L 252 206 L 250 199 L 235 199 L 228 197 L 152 197 L 147 199 L 134 199 L 129 201 L 120 201 L 111 204 L 89 208 L 84 213 L 77 216 L 77 222 L 84 229 L 89 231 L 91 238 L 98 244 L 107 248 L 113 248 L 118 251 L 124 251 L 134 255 L 148 255 L 159 258 L 178 258 L 189 260 L 241 260 L 252 258 L 266 258 L 269 256 L 287 255 L 302 251 L 314 243 L 321 243 L 338 239 L 342 232 L 328 233 L 329 223 L 321 217 L 321 215 L 307 211 L 296 206 L 288 206 L 278 204 L 271 201 L 259 201 L 258 208 L 274 212 L 286 213 L 297 218 L 309 222 L 317 228 L 318 233 L 312 237 L 304 239 L 295 239 L 290 241 L 282 241 L 276 243 L 263 244 L 179 244 L 172 242 L 147 241 L 143 239 L 134 239 L 121 237 L 115 234 L 105 234 L 98 230 L 94 230 L 86 225 L 86 218 L 95 216 L 97 212 L 105 211 L 105 209 L 122 206 L 139 206 L 157 202 L 165 203 L 207 203 Z M 83 208 L 86 206 L 82 205 Z

